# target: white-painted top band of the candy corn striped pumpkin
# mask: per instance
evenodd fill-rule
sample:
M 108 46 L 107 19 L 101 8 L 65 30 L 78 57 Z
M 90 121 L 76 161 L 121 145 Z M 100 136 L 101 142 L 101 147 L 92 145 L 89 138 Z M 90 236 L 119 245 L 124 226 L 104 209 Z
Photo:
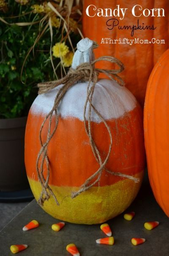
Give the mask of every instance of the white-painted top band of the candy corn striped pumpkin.
M 87 97 L 87 82 L 76 83 L 66 92 L 62 102 L 58 106 L 58 113 L 63 118 L 78 118 L 83 121 L 83 112 Z M 45 116 L 51 111 L 57 91 L 62 85 L 51 91 L 38 95 L 30 109 L 32 114 Z M 105 120 L 123 117 L 126 112 L 132 111 L 136 107 L 136 99 L 125 87 L 118 83 L 102 79 L 95 85 L 93 94 L 93 105 Z M 88 109 L 86 120 L 88 120 Z M 100 118 L 91 111 L 91 121 L 101 122 Z

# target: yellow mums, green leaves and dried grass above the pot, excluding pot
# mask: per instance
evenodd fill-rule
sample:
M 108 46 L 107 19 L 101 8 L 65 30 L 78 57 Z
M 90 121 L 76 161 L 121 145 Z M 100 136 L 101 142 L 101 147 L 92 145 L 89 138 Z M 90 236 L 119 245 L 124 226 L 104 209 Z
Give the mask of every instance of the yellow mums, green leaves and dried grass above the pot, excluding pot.
M 0 0 L 0 118 L 26 116 L 35 85 L 64 75 L 81 14 L 80 0 Z

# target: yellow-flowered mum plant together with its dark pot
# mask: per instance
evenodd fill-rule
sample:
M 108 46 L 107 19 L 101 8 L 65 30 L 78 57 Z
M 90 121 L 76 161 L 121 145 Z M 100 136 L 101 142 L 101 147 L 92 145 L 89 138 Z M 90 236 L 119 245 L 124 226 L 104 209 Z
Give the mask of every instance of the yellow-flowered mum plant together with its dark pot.
M 78 2 L 0 0 L 0 191 L 28 186 L 27 113 L 35 85 L 57 79 L 71 65 L 82 36 Z

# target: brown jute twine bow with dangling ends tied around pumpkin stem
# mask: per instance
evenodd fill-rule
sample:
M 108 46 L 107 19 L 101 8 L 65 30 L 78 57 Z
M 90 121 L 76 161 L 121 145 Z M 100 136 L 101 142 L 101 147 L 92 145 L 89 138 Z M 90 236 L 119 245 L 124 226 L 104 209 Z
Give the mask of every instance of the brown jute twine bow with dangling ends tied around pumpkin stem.
M 114 64 L 117 64 L 119 69 L 118 70 L 97 69 L 97 68 L 95 68 L 95 63 L 98 61 L 112 62 Z M 57 95 L 55 97 L 54 104 L 53 104 L 51 111 L 46 115 L 44 122 L 41 125 L 40 134 L 39 134 L 40 142 L 41 142 L 41 150 L 38 153 L 38 157 L 37 157 L 37 161 L 36 161 L 36 170 L 37 170 L 37 174 L 38 174 L 38 179 L 42 186 L 41 195 L 38 200 L 38 203 L 41 206 L 43 206 L 45 200 L 48 200 L 51 195 L 55 199 L 55 202 L 57 203 L 57 205 L 59 205 L 59 202 L 58 202 L 55 194 L 53 193 L 52 189 L 49 186 L 50 168 L 49 168 L 49 159 L 48 159 L 48 155 L 47 155 L 47 148 L 48 148 L 50 140 L 52 139 L 53 135 L 55 134 L 55 131 L 57 129 L 57 125 L 59 122 L 59 115 L 57 112 L 57 107 L 60 104 L 61 100 L 63 99 L 65 93 L 68 91 L 68 89 L 71 86 L 74 86 L 74 84 L 76 84 L 78 81 L 88 81 L 87 97 L 86 97 L 84 113 L 83 113 L 84 125 L 85 125 L 85 131 L 90 140 L 90 146 L 92 148 L 93 155 L 95 156 L 95 159 L 99 164 L 99 168 L 97 171 L 95 171 L 93 173 L 93 175 L 91 175 L 89 178 L 87 178 L 87 180 L 84 182 L 84 184 L 82 184 L 82 186 L 80 187 L 80 189 L 78 191 L 72 192 L 71 198 L 75 198 L 80 193 L 86 191 L 87 189 L 89 189 L 90 187 L 92 187 L 96 183 L 98 183 L 100 181 L 101 174 L 102 174 L 103 170 L 105 170 L 107 173 L 109 173 L 111 175 L 128 178 L 128 179 L 133 180 L 134 182 L 139 182 L 139 179 L 135 178 L 134 176 L 126 175 L 123 173 L 112 172 L 106 168 L 106 164 L 109 160 L 110 152 L 112 149 L 112 134 L 111 134 L 109 126 L 107 125 L 106 121 L 104 120 L 104 117 L 101 116 L 101 114 L 97 111 L 97 109 L 95 109 L 95 107 L 93 106 L 93 103 L 92 103 L 93 93 L 95 90 L 95 85 L 98 81 L 99 73 L 106 74 L 112 81 L 116 81 L 121 86 L 123 86 L 124 85 L 123 80 L 117 75 L 118 73 L 122 72 L 123 70 L 124 70 L 124 66 L 123 66 L 122 62 L 119 61 L 117 58 L 113 58 L 110 56 L 104 56 L 104 57 L 94 60 L 91 63 L 80 64 L 76 68 L 76 70 L 70 69 L 68 74 L 64 78 L 61 78 L 58 81 L 50 81 L 47 83 L 38 83 L 38 88 L 39 88 L 38 94 L 46 93 L 49 90 L 59 86 L 60 84 L 63 84 L 63 86 L 57 92 Z M 88 113 L 87 113 L 87 104 L 89 105 Z M 99 152 L 98 147 L 96 146 L 96 144 L 93 140 L 93 136 L 92 136 L 92 131 L 91 131 L 91 111 L 92 111 L 92 109 L 95 112 L 95 114 L 101 119 L 101 122 L 104 123 L 104 125 L 106 126 L 106 129 L 108 131 L 108 134 L 109 134 L 109 140 L 110 140 L 109 150 L 108 150 L 108 153 L 105 156 L 104 160 L 102 160 L 101 153 Z M 55 127 L 51 131 L 53 113 L 55 113 Z M 86 114 L 88 114 L 88 122 L 86 120 Z M 47 138 L 46 138 L 46 141 L 43 142 L 42 141 L 42 130 L 43 130 L 45 122 L 48 119 L 49 119 L 49 126 L 48 126 Z M 44 165 L 45 164 L 47 167 L 46 178 L 44 177 Z

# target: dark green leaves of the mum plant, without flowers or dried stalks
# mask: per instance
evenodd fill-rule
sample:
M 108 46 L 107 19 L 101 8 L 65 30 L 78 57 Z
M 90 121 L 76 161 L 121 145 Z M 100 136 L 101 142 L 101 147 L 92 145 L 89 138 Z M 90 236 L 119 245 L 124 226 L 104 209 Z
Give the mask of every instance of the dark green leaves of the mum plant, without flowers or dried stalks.
M 8 0 L 8 11 L 0 11 L 0 17 L 10 24 L 40 21 L 42 14 L 34 14 L 30 8 L 31 5 L 39 3 L 38 0 L 30 0 L 27 5 L 20 5 L 14 0 Z M 0 21 L 0 118 L 26 116 L 37 95 L 37 83 L 56 79 L 50 60 L 49 28 L 25 61 L 39 34 L 39 29 L 42 31 L 43 28 L 39 27 L 39 22 L 34 25 L 18 26 Z M 53 28 L 53 45 L 60 42 L 61 29 Z M 71 33 L 71 37 L 75 47 L 79 36 Z M 57 67 L 59 59 L 54 58 L 53 61 Z M 60 68 L 57 69 L 57 76 L 60 77 Z

